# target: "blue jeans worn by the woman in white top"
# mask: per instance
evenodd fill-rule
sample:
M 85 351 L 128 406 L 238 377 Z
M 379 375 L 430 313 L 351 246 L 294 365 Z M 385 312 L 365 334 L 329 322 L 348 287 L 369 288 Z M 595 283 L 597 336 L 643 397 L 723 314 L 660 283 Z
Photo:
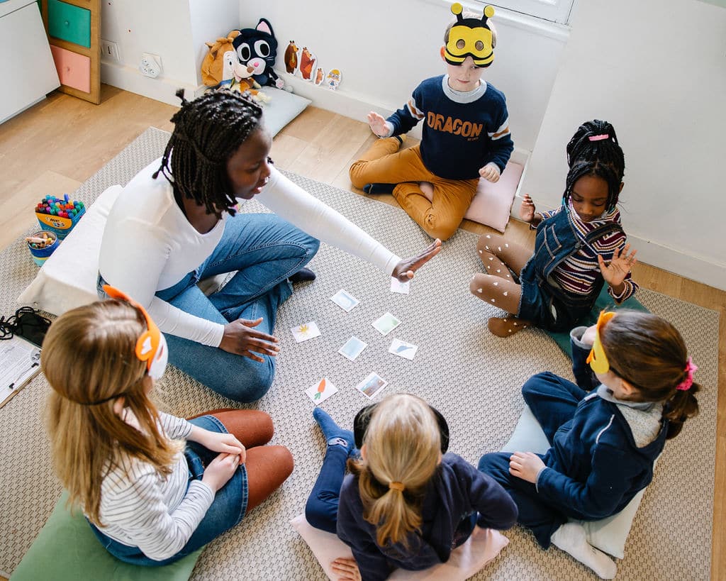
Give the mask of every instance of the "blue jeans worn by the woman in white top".
M 194 272 L 159 290 L 158 298 L 197 317 L 227 325 L 237 319 L 262 322 L 255 327 L 272 335 L 277 309 L 293 293 L 287 277 L 304 267 L 320 243 L 274 214 L 228 216 L 219 244 Z M 237 274 L 211 296 L 197 287 L 204 278 Z M 106 298 L 100 289 L 99 296 Z M 254 402 L 267 393 L 274 378 L 275 358 L 264 362 L 228 353 L 166 334 L 169 362 L 218 394 L 237 402 Z M 224 371 L 224 373 L 222 373 Z

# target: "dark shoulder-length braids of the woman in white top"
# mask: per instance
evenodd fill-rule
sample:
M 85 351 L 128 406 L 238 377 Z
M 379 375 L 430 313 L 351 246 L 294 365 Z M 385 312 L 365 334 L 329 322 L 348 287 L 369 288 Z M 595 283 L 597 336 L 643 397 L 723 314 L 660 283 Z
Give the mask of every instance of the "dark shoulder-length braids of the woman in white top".
M 242 142 L 261 126 L 262 109 L 248 94 L 219 89 L 187 101 L 184 89 L 176 96 L 181 109 L 171 118 L 171 134 L 161 158 L 161 172 L 174 187 L 178 202 L 182 198 L 203 205 L 208 214 L 221 218 L 219 208 L 236 203 L 227 176 L 227 161 Z

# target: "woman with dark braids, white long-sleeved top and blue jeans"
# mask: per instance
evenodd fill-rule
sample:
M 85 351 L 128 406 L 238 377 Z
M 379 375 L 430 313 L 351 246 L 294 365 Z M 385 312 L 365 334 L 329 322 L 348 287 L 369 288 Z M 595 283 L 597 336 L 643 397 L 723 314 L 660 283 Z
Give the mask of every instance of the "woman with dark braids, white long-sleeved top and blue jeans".
M 303 267 L 316 237 L 399 280 L 412 278 L 441 242 L 399 259 L 272 166 L 272 138 L 247 96 L 177 96 L 181 109 L 163 157 L 131 179 L 110 211 L 98 293 L 105 298 L 108 283 L 133 296 L 166 333 L 173 365 L 219 394 L 252 402 L 272 384 L 278 307 L 292 283 L 314 279 Z M 277 215 L 235 210 L 251 198 Z M 196 285 L 235 271 L 209 297 Z

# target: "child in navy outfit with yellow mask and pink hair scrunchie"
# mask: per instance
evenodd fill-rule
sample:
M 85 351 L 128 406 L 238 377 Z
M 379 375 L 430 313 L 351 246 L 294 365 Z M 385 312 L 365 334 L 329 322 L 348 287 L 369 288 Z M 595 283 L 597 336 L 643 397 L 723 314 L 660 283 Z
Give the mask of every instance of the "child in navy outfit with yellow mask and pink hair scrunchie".
M 539 373 L 522 388 L 550 450 L 486 454 L 479 470 L 512 495 L 519 523 L 542 548 L 553 543 L 612 579 L 615 563 L 568 519 L 605 519 L 650 484 L 666 439 L 698 413 L 697 367 L 680 333 L 655 314 L 603 312 L 596 326 L 574 329 L 571 339 L 579 387 Z

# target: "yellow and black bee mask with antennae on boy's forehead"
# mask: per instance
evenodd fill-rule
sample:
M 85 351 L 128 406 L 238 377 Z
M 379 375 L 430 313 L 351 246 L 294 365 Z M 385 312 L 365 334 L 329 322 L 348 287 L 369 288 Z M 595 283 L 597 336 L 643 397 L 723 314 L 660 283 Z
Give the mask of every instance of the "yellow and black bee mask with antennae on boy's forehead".
M 494 16 L 494 7 L 484 7 L 481 20 L 462 17 L 463 7 L 458 2 L 452 4 L 452 14 L 457 22 L 449 31 L 449 41 L 444 47 L 444 59 L 449 65 L 460 65 L 466 57 L 472 57 L 478 67 L 488 67 L 494 60 L 492 31 L 486 20 Z

